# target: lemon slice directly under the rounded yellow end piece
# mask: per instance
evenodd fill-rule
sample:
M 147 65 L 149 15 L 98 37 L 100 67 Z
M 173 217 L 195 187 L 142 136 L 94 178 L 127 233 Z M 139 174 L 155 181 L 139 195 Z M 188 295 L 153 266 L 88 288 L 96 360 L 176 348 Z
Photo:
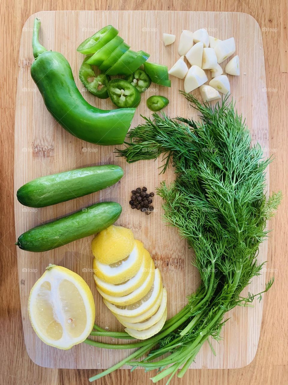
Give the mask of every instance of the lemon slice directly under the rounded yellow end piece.
M 113 264 L 104 264 L 94 258 L 93 269 L 95 275 L 102 281 L 113 283 L 125 282 L 132 278 L 139 270 L 143 261 L 144 246 L 141 242 L 135 241 L 131 254 L 122 261 Z

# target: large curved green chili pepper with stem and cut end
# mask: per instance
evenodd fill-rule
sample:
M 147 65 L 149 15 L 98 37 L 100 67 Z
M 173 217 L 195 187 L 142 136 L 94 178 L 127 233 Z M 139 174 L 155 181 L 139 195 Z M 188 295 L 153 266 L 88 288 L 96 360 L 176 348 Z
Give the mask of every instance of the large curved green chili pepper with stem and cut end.
M 32 39 L 36 60 L 31 65 L 31 76 L 50 114 L 79 139 L 103 145 L 122 144 L 135 109 L 100 110 L 86 102 L 65 57 L 59 52 L 45 50 L 39 43 L 40 24 L 36 18 Z

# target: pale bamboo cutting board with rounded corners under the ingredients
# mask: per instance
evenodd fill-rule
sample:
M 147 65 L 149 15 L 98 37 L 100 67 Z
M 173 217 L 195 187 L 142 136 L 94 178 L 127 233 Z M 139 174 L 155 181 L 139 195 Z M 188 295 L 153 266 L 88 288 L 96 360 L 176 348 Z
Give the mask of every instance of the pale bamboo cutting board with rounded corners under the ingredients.
M 101 147 L 81 141 L 68 134 L 46 110 L 40 92 L 30 76 L 33 62 L 31 37 L 33 20 L 41 19 L 40 39 L 47 48 L 61 52 L 71 64 L 76 84 L 86 100 L 103 109 L 113 108 L 107 100 L 100 100 L 86 92 L 78 78 L 83 55 L 76 47 L 105 25 L 119 29 L 119 35 L 133 50 L 145 50 L 150 60 L 171 67 L 179 58 L 177 41 L 182 29 L 207 28 L 209 34 L 218 39 L 235 37 L 236 54 L 240 57 L 240 77 L 229 76 L 232 96 L 236 107 L 245 117 L 253 140 L 260 142 L 268 153 L 268 117 L 265 92 L 265 65 L 262 36 L 253 17 L 234 12 L 169 12 L 169 11 L 50 11 L 31 15 L 26 21 L 21 37 L 17 108 L 15 116 L 15 197 L 22 184 L 36 177 L 66 171 L 78 167 L 115 163 L 124 169 L 124 177 L 115 186 L 55 206 L 32 209 L 18 203 L 15 198 L 15 228 L 17 237 L 24 231 L 46 221 L 73 213 L 98 201 L 116 201 L 123 212 L 116 224 L 132 229 L 135 238 L 141 240 L 150 251 L 156 266 L 161 269 L 163 283 L 168 292 L 169 317 L 186 304 L 186 296 L 199 285 L 197 270 L 191 265 L 192 251 L 177 231 L 167 227 L 161 220 L 161 199 L 154 198 L 154 213 L 144 215 L 129 207 L 130 191 L 138 186 L 147 186 L 155 191 L 166 179 L 172 181 L 173 171 L 159 175 L 157 167 L 161 161 L 141 161 L 128 165 L 115 157 L 114 147 Z M 164 47 L 162 33 L 175 33 L 176 42 Z M 226 62 L 223 63 L 225 66 Z M 208 75 L 210 76 L 210 74 Z M 171 78 L 170 89 L 156 84 L 142 94 L 142 102 L 132 122 L 142 122 L 139 116 L 149 115 L 146 99 L 155 94 L 165 95 L 170 104 L 166 113 L 171 117 L 197 114 L 189 107 L 183 96 L 183 80 Z M 195 95 L 199 96 L 198 91 Z M 23 331 L 28 355 L 33 362 L 51 368 L 107 368 L 127 357 L 128 352 L 104 350 L 84 343 L 71 350 L 61 351 L 46 346 L 35 335 L 27 312 L 27 301 L 31 287 L 43 274 L 49 263 L 60 264 L 79 275 L 90 286 L 96 303 L 96 323 L 107 330 L 123 330 L 111 315 L 95 289 L 90 242 L 93 237 L 75 241 L 46 253 L 28 253 L 17 248 L 18 279 L 22 307 Z M 259 260 L 266 259 L 267 244 L 260 248 Z M 249 290 L 260 291 L 265 274 L 253 280 Z M 217 356 L 214 357 L 208 344 L 197 355 L 192 368 L 239 368 L 250 363 L 256 353 L 262 319 L 263 302 L 255 302 L 254 308 L 237 308 L 230 311 L 230 320 L 223 328 L 223 341 L 212 341 Z M 103 340 L 105 341 L 105 340 Z

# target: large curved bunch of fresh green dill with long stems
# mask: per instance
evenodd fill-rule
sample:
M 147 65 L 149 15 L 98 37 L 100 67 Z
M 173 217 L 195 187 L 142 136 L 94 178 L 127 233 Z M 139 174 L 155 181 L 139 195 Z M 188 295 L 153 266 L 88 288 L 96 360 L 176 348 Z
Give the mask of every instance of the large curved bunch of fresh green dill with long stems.
M 146 370 L 159 368 L 153 382 L 172 377 L 184 365 L 177 374 L 182 377 L 205 341 L 220 340 L 227 311 L 261 300 L 271 287 L 273 280 L 261 293 L 241 297 L 252 278 L 261 274 L 259 245 L 267 238 L 267 220 L 282 199 L 281 192 L 266 198 L 265 173 L 272 159 L 263 158 L 259 144 L 252 146 L 233 102 L 225 98 L 212 107 L 181 94 L 200 112 L 200 121 L 165 114 L 143 117 L 144 123 L 129 131 L 126 148 L 116 150 L 127 162 L 162 155 L 162 172 L 174 168 L 175 181 L 169 186 L 162 182 L 157 194 L 163 200 L 165 221 L 194 250 L 192 263 L 202 281 L 188 299 L 188 310 L 180 312 L 182 323 L 160 341 L 156 353 L 131 362 Z M 169 321 L 163 330 L 168 326 Z M 170 355 L 152 361 L 166 353 Z

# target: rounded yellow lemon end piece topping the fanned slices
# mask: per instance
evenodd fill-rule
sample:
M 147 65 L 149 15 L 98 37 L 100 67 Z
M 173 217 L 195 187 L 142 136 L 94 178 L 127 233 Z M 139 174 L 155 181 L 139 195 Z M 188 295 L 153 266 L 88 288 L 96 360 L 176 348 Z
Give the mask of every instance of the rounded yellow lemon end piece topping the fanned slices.
M 91 242 L 91 250 L 97 261 L 111 264 L 126 258 L 134 247 L 134 235 L 130 229 L 109 226 L 100 231 Z

